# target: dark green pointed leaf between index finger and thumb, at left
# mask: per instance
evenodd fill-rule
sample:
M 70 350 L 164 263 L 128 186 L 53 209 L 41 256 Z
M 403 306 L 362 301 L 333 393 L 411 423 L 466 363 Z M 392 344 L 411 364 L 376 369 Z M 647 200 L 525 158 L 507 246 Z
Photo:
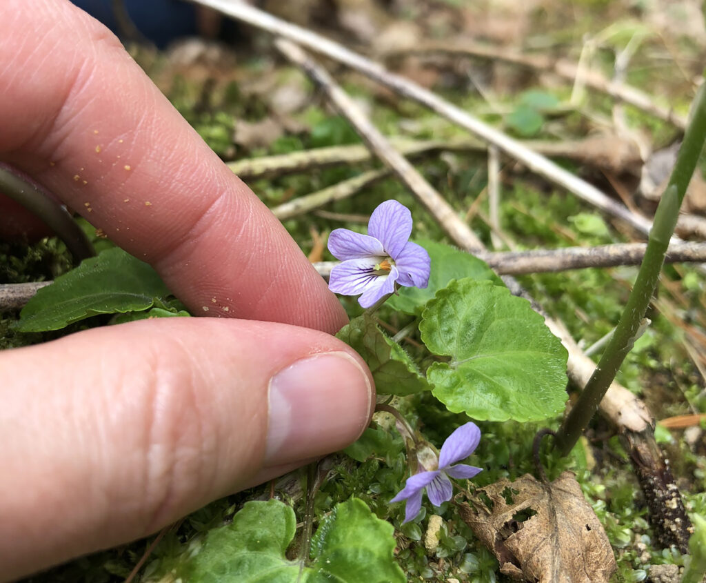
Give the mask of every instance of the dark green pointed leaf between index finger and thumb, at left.
M 169 290 L 154 269 L 114 247 L 40 289 L 20 312 L 16 329 L 59 330 L 96 314 L 148 310 L 155 298 L 167 295 Z

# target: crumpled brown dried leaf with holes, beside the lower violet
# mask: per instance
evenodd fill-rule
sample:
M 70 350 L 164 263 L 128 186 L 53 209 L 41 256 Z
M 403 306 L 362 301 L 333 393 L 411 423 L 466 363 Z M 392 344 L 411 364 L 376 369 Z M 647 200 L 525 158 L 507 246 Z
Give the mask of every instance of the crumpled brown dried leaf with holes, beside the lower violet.
M 492 510 L 475 497 L 460 506 L 460 514 L 496 555 L 504 575 L 539 583 L 601 583 L 616 570 L 608 537 L 572 472 L 547 484 L 525 474 L 481 492 Z

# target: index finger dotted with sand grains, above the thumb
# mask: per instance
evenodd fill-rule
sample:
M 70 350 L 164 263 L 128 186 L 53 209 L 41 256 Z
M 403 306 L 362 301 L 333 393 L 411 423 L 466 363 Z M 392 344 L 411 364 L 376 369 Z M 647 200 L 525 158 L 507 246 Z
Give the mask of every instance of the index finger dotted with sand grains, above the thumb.
M 345 324 L 279 221 L 107 28 L 65 0 L 3 12 L 1 159 L 152 264 L 193 313 Z

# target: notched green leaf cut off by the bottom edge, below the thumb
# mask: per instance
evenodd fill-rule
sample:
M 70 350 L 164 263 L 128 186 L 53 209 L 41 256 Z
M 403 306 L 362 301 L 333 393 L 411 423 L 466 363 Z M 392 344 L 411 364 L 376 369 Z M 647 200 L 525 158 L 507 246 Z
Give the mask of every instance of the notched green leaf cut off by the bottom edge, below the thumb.
M 337 505 L 311 541 L 301 570 L 285 552 L 296 530 L 294 511 L 279 500 L 246 502 L 232 524 L 211 530 L 175 573 L 190 583 L 387 583 L 405 581 L 395 563 L 392 524 L 357 498 Z

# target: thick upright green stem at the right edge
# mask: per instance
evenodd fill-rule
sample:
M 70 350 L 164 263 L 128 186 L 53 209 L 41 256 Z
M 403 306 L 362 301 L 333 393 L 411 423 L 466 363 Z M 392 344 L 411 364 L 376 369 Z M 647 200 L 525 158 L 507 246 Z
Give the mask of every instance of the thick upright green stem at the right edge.
M 638 278 L 630 293 L 630 298 L 628 298 L 625 311 L 596 370 L 557 432 L 556 447 L 562 455 L 567 455 L 578 441 L 596 413 L 601 399 L 613 382 L 623 360 L 633 348 L 633 343 L 635 343 L 640 329 L 640 322 L 645 317 L 654 288 L 657 286 L 659 272 L 662 271 L 664 263 L 664 254 L 674 233 L 679 208 L 705 139 L 706 91 L 702 87 L 693 105 L 692 117 L 686 129 L 684 141 L 679 148 L 669 184 L 659 201 L 657 212 L 654 214 L 654 223 L 652 223 L 652 230 L 650 230 L 650 239 L 647 241 L 645 258 L 642 259 Z

